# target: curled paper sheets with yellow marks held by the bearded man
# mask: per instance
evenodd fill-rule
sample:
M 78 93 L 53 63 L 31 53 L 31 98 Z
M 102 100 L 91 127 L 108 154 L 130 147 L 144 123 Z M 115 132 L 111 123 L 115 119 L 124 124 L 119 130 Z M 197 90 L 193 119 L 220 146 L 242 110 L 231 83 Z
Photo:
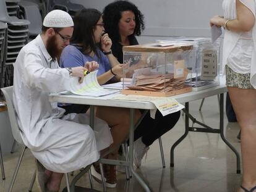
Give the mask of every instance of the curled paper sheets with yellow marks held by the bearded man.
M 119 90 L 106 90 L 101 87 L 97 80 L 97 72 L 98 70 L 86 75 L 85 78 L 83 78 L 83 83 L 79 83 L 78 77 L 73 77 L 72 80 L 70 80 L 69 91 L 73 94 L 95 97 L 119 92 Z

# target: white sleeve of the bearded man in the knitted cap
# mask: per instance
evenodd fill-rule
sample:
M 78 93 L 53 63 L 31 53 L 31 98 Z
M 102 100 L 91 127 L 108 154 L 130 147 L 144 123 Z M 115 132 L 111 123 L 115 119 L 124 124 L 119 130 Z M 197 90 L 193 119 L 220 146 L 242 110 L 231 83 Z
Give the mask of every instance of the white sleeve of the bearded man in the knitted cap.
M 28 86 L 38 90 L 58 93 L 69 90 L 69 72 L 66 69 L 49 69 L 43 66 L 40 54 L 25 53 L 24 78 Z

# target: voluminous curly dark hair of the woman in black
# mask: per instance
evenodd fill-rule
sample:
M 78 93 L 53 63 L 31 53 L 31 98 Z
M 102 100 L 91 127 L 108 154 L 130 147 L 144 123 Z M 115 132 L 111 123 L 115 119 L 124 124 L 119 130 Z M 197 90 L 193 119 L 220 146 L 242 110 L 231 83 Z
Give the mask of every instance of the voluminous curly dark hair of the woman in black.
M 105 31 L 108 33 L 109 37 L 112 41 L 119 42 L 121 41 L 119 35 L 118 23 L 121 19 L 122 12 L 130 10 L 135 15 L 135 29 L 134 34 L 139 36 L 141 31 L 145 29 L 144 26 L 144 16 L 140 12 L 137 6 L 135 6 L 132 2 L 129 1 L 114 1 L 108 4 L 103 10 L 103 22 Z

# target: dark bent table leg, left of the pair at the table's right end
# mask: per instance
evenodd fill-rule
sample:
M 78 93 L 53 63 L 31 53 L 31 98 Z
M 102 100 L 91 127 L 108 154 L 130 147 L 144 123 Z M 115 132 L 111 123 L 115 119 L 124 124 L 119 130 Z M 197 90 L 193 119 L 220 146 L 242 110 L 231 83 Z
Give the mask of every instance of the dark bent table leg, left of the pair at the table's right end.
M 189 102 L 185 103 L 185 110 L 189 113 Z M 170 166 L 174 167 L 174 149 L 176 148 L 176 146 L 181 143 L 182 140 L 184 140 L 184 138 L 186 138 L 187 134 L 189 133 L 189 115 L 187 113 L 185 113 L 185 133 L 184 135 L 181 136 L 181 138 L 179 138 L 179 140 L 177 140 L 173 146 L 171 146 L 171 162 L 170 162 Z

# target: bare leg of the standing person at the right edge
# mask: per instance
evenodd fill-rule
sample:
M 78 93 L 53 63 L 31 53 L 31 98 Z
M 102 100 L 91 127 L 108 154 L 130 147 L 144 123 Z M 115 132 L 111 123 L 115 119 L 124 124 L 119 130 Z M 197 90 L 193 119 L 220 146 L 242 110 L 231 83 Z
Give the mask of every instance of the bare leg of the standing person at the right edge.
M 228 92 L 241 127 L 242 186 L 250 190 L 256 185 L 256 90 L 228 87 Z

